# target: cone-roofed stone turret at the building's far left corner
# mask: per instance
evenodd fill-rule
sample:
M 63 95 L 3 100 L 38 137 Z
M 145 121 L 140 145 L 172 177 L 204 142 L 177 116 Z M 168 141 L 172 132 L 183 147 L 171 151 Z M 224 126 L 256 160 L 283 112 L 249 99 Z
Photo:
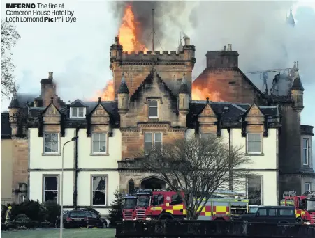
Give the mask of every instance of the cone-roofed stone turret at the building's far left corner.
M 12 128 L 12 136 L 17 136 L 19 134 L 19 127 L 20 127 L 20 116 L 22 113 L 22 107 L 20 106 L 19 101 L 17 100 L 17 90 L 14 86 L 13 88 L 13 97 L 8 106 L 9 109 L 9 118 L 10 118 L 10 125 Z

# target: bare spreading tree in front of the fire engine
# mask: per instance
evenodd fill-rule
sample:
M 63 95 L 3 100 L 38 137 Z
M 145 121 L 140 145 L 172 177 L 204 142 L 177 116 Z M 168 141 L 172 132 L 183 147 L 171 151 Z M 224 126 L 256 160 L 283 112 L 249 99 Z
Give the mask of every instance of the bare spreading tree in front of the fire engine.
M 142 165 L 177 191 L 186 206 L 187 219 L 198 219 L 217 189 L 244 187 L 247 171 L 240 167 L 250 161 L 241 148 L 229 148 L 221 138 L 187 138 L 163 143 L 142 159 Z M 242 185 L 241 185 L 242 184 Z M 199 208 L 199 209 L 198 209 Z

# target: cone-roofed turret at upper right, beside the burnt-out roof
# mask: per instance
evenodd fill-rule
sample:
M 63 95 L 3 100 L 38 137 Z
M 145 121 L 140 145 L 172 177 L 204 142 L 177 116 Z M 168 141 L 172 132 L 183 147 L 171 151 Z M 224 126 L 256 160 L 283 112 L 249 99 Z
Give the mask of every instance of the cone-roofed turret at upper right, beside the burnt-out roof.
M 304 108 L 303 106 L 303 91 L 302 82 L 300 79 L 298 69 L 298 63 L 294 63 L 293 72 L 295 73 L 293 83 L 291 86 L 291 99 L 293 101 L 293 110 L 301 112 Z

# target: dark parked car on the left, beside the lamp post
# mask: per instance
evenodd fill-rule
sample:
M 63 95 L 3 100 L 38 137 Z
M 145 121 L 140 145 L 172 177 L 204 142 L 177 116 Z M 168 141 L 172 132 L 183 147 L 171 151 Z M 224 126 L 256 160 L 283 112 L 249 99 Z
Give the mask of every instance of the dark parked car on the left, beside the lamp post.
M 103 223 L 93 212 L 82 209 L 64 212 L 64 228 L 103 228 Z M 60 228 L 60 219 L 57 219 L 57 228 Z

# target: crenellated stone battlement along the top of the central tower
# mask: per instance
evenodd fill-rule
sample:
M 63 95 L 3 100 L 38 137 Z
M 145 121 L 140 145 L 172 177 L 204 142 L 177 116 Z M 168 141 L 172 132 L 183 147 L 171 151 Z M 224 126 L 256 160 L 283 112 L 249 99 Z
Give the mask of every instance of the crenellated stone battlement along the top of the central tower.
M 153 58 L 157 61 L 184 61 L 184 51 L 154 51 Z M 152 61 L 152 51 L 123 51 L 122 61 Z

